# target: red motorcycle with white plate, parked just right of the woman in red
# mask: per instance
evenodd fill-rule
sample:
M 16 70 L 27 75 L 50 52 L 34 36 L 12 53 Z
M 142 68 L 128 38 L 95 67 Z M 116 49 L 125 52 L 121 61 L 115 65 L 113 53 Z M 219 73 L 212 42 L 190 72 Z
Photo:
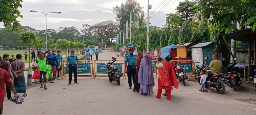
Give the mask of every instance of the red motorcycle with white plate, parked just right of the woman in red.
M 183 82 L 183 85 L 186 85 L 185 80 L 188 79 L 188 77 L 186 76 L 186 73 L 184 74 L 185 71 L 179 65 L 181 61 L 177 62 L 177 64 L 175 65 L 176 77 L 179 80 L 179 82 Z

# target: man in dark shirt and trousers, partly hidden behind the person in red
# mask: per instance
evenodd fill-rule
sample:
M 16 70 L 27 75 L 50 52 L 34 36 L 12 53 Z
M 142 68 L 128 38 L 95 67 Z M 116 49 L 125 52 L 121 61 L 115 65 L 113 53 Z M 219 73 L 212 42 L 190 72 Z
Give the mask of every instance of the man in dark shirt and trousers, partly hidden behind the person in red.
M 2 60 L 2 58 L 1 58 Z M 0 60 L 0 61 L 1 61 Z M 6 70 L 9 73 L 9 77 L 11 77 L 11 64 L 8 62 L 10 60 L 10 55 L 4 54 L 3 60 L 0 62 L 0 68 Z M 6 84 L 6 92 L 7 92 L 7 99 L 10 100 L 11 98 L 11 89 L 9 87 L 9 84 Z

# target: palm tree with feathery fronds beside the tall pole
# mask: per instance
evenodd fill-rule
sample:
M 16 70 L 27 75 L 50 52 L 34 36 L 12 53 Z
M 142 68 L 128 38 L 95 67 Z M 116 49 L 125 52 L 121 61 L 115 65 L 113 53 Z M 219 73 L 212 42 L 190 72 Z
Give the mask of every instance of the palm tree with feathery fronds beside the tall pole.
M 149 22 L 149 24 L 151 23 Z M 147 25 L 147 17 L 145 16 L 144 11 L 138 12 L 134 15 L 134 25 L 136 26 Z

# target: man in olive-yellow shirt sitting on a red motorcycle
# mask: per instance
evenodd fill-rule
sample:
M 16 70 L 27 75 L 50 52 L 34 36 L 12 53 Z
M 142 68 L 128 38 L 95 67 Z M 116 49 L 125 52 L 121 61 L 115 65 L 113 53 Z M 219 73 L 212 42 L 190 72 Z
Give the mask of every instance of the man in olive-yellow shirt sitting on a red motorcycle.
M 218 60 L 218 55 L 212 55 L 212 61 L 210 65 L 205 69 L 205 71 L 207 72 L 207 70 L 211 68 L 211 70 L 208 72 L 207 79 L 205 82 L 205 92 L 208 92 L 208 79 L 212 77 L 212 74 L 220 72 L 221 66 L 222 63 L 220 60 Z M 216 91 L 216 89 L 214 89 L 214 91 Z

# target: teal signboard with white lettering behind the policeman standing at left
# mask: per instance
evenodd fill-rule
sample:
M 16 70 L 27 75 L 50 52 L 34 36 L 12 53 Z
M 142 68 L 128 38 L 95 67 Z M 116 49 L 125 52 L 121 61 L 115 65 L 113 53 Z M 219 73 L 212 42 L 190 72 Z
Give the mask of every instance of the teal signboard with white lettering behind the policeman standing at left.
M 67 64 L 65 64 L 65 71 L 66 71 L 66 74 L 69 73 Z M 91 73 L 91 64 L 89 64 L 89 63 L 79 64 L 77 67 L 77 73 Z

